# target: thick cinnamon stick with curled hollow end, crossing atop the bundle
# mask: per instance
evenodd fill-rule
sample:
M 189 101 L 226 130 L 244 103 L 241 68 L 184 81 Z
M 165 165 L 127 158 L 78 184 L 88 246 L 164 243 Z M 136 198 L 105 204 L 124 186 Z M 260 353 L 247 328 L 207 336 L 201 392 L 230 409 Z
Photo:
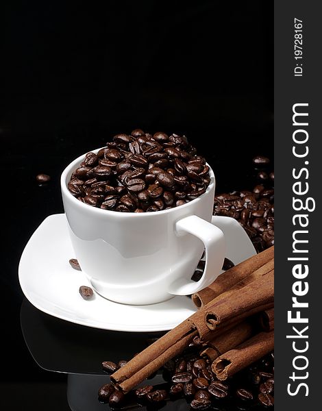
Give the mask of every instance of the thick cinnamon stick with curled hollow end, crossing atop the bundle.
M 241 291 L 235 290 L 223 298 L 217 297 L 188 318 L 197 328 L 201 340 L 207 341 L 215 329 L 241 322 L 252 314 L 272 308 L 274 305 L 274 270 L 256 279 Z

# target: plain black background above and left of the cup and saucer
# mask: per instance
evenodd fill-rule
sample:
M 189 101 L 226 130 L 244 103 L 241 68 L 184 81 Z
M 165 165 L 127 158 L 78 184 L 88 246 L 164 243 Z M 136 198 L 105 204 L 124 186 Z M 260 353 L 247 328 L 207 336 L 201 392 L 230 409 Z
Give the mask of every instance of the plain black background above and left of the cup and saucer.
M 214 169 L 217 192 L 251 188 L 253 156 L 273 158 L 273 6 L 6 3 L 0 403 L 64 410 L 66 377 L 42 371 L 25 346 L 17 277 L 29 236 L 63 211 L 60 173 L 114 134 L 140 127 L 185 134 Z M 51 182 L 38 186 L 38 173 Z

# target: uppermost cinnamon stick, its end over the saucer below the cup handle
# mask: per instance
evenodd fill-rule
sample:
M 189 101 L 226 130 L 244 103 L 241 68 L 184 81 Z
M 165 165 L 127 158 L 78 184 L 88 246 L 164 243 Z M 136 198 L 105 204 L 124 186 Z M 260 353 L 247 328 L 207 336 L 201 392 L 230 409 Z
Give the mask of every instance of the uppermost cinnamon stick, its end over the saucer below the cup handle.
M 258 270 L 264 264 L 267 264 L 267 262 L 271 261 L 273 258 L 274 246 L 258 253 L 256 256 L 252 256 L 251 258 L 240 262 L 240 264 L 232 267 L 232 269 L 225 271 L 219 275 L 210 286 L 203 288 L 203 290 L 195 292 L 195 294 L 192 295 L 195 306 L 197 306 L 197 308 L 206 306 L 207 303 L 223 294 L 223 292 L 231 290 L 236 283 L 245 279 L 245 277 Z

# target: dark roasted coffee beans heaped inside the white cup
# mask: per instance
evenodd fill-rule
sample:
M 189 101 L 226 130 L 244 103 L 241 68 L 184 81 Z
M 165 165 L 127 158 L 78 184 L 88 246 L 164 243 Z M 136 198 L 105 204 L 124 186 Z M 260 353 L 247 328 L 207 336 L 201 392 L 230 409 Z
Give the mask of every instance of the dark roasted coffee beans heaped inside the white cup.
M 87 153 L 69 191 L 103 210 L 154 212 L 196 199 L 210 184 L 209 166 L 186 136 L 135 129 Z

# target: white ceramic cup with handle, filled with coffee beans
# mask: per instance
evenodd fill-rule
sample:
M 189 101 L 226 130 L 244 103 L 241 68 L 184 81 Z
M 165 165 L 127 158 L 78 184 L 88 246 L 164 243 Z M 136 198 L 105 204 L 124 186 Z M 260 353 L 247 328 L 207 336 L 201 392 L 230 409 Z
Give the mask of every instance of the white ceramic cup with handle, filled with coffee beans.
M 206 192 L 183 206 L 116 212 L 88 206 L 69 192 L 67 184 L 84 156 L 63 171 L 62 199 L 75 256 L 99 295 L 145 305 L 190 295 L 214 281 L 225 258 L 225 239 L 210 223 L 215 187 L 211 169 Z M 193 282 L 203 249 L 206 266 L 201 279 Z

